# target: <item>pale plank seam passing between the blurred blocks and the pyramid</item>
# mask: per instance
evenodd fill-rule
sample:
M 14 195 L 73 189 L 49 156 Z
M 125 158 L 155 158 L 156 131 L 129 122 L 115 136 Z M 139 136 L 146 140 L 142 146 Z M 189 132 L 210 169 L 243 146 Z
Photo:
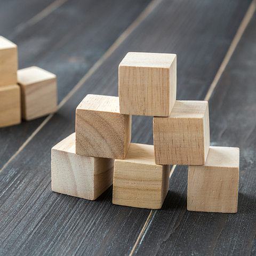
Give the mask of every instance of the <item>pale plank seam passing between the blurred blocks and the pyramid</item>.
M 109 56 L 117 49 L 119 45 L 140 25 L 140 23 L 145 20 L 148 15 L 155 9 L 155 7 L 161 3 L 162 0 L 153 0 L 146 7 L 146 9 L 141 12 L 141 14 L 131 23 L 131 25 L 119 36 L 115 43 L 109 47 L 109 49 L 102 55 L 102 57 L 90 68 L 90 70 L 80 79 L 80 81 L 75 85 L 75 87 L 67 94 L 67 96 L 59 103 L 58 109 L 60 109 L 71 96 L 81 87 L 87 79 L 102 65 L 102 63 L 109 58 Z M 5 163 L 0 172 L 2 172 L 7 165 L 25 148 L 28 143 L 35 137 L 35 135 L 50 121 L 53 114 L 47 116 L 44 121 L 37 127 L 37 129 L 30 135 L 30 137 L 21 145 L 21 147 L 15 152 L 15 154 Z

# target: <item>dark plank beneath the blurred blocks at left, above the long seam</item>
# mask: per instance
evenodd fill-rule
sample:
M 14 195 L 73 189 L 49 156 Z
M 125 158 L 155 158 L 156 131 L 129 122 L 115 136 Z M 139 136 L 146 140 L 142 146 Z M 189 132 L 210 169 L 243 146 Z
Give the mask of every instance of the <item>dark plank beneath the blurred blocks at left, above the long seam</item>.
M 39 66 L 56 74 L 60 102 L 149 2 L 67 1 L 34 26 L 9 37 L 18 45 L 19 68 Z M 0 129 L 0 169 L 44 119 Z

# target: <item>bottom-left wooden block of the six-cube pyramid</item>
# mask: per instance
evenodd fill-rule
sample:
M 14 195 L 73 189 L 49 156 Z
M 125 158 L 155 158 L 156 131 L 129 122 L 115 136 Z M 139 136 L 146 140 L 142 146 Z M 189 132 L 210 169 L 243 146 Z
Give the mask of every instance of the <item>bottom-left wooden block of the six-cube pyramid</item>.
M 52 148 L 52 191 L 95 200 L 113 184 L 114 159 L 75 154 L 75 133 Z

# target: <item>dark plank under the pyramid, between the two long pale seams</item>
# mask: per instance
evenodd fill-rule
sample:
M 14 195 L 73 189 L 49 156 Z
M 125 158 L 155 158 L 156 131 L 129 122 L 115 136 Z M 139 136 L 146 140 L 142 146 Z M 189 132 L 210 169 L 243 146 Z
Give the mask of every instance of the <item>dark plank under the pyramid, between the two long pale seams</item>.
M 178 97 L 202 99 L 249 2 L 177 1 L 170 4 L 166 0 L 148 15 L 0 173 L 2 254 L 129 255 L 150 210 L 113 205 L 111 189 L 94 202 L 52 193 L 51 147 L 74 132 L 75 109 L 87 93 L 117 95 L 117 67 L 127 51 L 177 53 Z M 141 117 L 135 121 L 133 140 L 153 142 L 152 119 Z M 182 197 L 186 195 L 187 180 L 180 179 L 181 174 L 186 176 L 186 167 L 177 173 L 177 183 L 172 182 L 177 190 L 169 191 L 167 201 L 170 202 L 179 188 L 185 194 L 179 193 L 171 206 L 163 206 L 163 211 L 159 211 L 165 214 L 163 220 L 176 220 L 177 226 L 186 212 Z M 170 210 L 175 206 L 180 214 L 170 217 Z M 159 227 L 165 230 L 173 224 L 166 223 L 162 221 Z M 156 237 L 155 241 L 160 244 L 163 239 Z M 147 243 L 149 247 L 148 254 L 152 247 Z

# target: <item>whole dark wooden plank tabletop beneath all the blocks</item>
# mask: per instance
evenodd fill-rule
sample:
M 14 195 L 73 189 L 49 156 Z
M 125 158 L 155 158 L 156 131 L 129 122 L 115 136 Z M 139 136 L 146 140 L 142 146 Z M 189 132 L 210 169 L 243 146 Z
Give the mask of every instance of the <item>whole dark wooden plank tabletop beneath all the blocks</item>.
M 58 78 L 59 111 L 0 129 L 0 255 L 256 255 L 256 1 L 1 0 L 19 68 Z M 187 166 L 161 210 L 51 191 L 51 148 L 88 93 L 118 95 L 129 51 L 176 53 L 177 99 L 209 100 L 211 145 L 241 149 L 238 212 L 187 211 Z M 151 117 L 132 142 L 153 144 Z

